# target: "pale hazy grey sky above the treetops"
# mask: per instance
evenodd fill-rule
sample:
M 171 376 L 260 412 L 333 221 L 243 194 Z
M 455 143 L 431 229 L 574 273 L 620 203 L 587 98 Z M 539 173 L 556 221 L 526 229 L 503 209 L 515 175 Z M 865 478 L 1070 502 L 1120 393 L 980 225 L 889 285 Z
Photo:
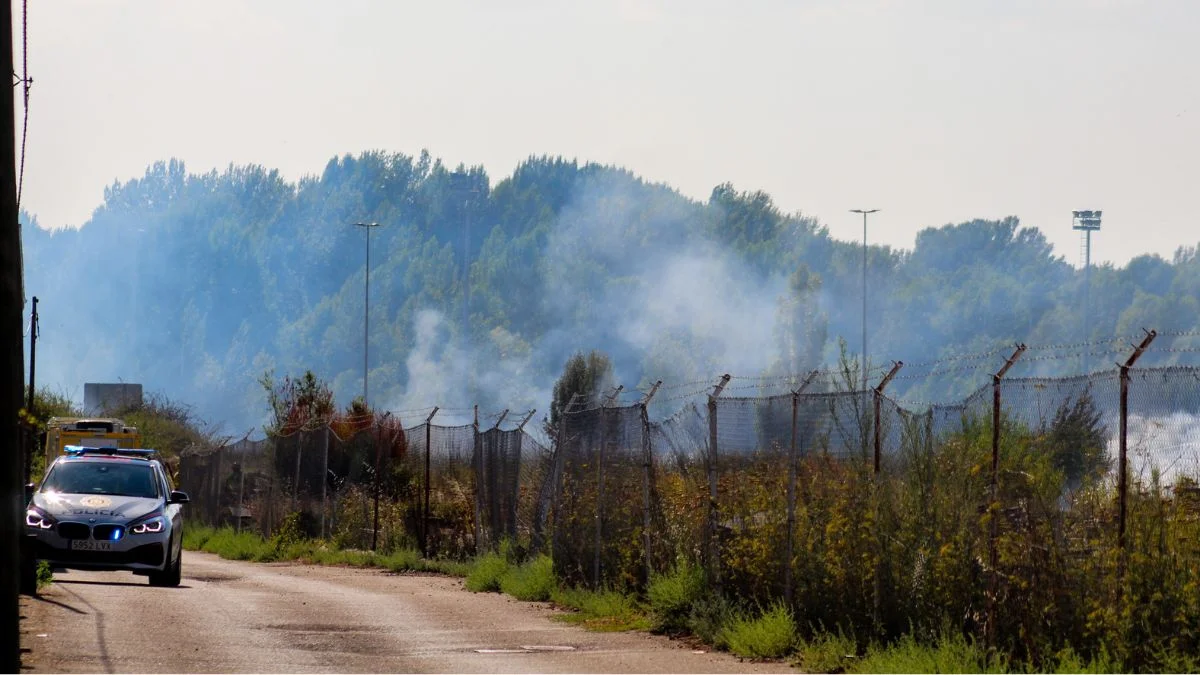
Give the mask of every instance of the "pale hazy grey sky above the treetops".
M 1020 216 L 1079 259 L 1200 243 L 1200 1 L 36 0 L 23 207 L 82 225 L 179 157 L 288 178 L 428 149 L 529 155 L 707 199 L 766 190 L 860 240 Z M 17 62 L 20 64 L 20 14 Z M 19 90 L 18 90 L 19 91 Z M 18 109 L 19 114 L 19 109 Z

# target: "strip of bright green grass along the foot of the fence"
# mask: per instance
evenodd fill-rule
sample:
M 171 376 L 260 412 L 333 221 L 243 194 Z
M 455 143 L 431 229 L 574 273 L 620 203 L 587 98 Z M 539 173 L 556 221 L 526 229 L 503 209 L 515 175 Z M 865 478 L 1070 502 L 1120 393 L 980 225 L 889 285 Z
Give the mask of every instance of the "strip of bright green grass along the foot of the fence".
M 787 658 L 808 673 L 1006 673 L 1031 670 L 989 652 L 960 633 L 946 632 L 934 640 L 905 635 L 889 644 L 860 650 L 841 632 L 816 631 L 802 637 L 792 611 L 781 605 L 748 613 L 744 607 L 707 590 L 703 572 L 680 566 L 650 580 L 646 601 L 617 591 L 564 589 L 554 578 L 553 563 L 538 556 L 514 563 L 508 546 L 470 562 L 425 560 L 420 551 L 402 549 L 390 554 L 342 550 L 329 542 L 288 534 L 264 539 L 229 527 L 188 525 L 184 548 L 203 550 L 230 560 L 256 562 L 298 561 L 314 565 L 372 567 L 392 572 L 434 572 L 462 577 L 475 592 L 504 592 L 522 601 L 550 601 L 574 610 L 558 619 L 592 631 L 656 631 L 690 633 L 716 649 L 752 659 Z M 38 567 L 38 587 L 50 581 L 48 566 Z M 1175 671 L 1195 671 L 1194 656 L 1183 655 Z M 1081 657 L 1064 650 L 1050 657 L 1055 673 L 1120 671 L 1106 652 Z M 1164 663 L 1166 663 L 1164 661 Z M 1174 662 L 1171 662 L 1174 663 Z M 1043 664 L 1045 668 L 1046 664 Z

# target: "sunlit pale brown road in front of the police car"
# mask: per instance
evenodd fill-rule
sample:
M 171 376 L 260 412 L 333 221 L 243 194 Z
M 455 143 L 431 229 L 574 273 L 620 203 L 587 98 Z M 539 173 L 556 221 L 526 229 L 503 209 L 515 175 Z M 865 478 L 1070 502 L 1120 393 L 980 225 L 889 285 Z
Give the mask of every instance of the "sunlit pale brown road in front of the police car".
M 462 581 L 187 551 L 179 589 L 66 572 L 22 598 L 25 671 L 787 673 L 642 633 L 592 633 Z

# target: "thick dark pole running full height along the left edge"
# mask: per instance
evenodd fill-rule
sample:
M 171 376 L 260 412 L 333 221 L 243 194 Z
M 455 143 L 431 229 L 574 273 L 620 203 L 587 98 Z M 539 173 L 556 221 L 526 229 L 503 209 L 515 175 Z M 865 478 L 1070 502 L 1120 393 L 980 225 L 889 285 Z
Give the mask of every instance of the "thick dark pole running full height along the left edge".
M 12 0 L 0 5 L 0 71 L 13 72 Z M 12 86 L 0 86 L 0 670 L 20 673 L 17 605 L 22 489 L 17 414 L 24 386 L 22 259 Z

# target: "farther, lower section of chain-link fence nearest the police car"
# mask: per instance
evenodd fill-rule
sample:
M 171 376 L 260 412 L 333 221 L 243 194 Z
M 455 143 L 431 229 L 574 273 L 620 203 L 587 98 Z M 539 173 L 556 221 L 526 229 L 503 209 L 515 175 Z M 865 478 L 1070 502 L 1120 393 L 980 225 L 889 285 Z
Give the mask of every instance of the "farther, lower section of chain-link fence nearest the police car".
M 522 425 L 523 426 L 523 425 Z M 466 557 L 528 540 L 548 450 L 522 428 L 322 425 L 180 458 L 191 518 L 271 536 L 289 514 L 342 548 Z

